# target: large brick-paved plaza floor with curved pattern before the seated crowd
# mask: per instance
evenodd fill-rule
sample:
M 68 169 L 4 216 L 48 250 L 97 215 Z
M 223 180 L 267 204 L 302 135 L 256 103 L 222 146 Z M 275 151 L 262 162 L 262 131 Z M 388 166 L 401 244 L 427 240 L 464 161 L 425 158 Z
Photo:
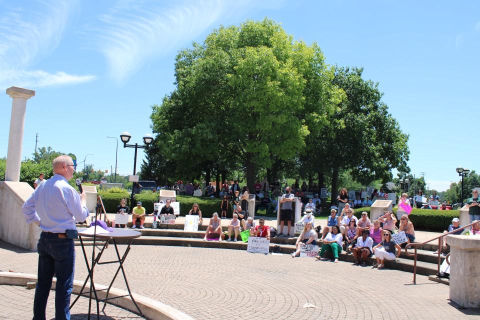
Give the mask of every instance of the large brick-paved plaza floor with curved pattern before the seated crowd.
M 83 280 L 86 268 L 79 247 L 76 252 L 75 279 Z M 87 252 L 91 254 L 91 247 Z M 102 259 L 113 254 L 110 246 Z M 37 253 L 0 241 L 0 270 L 36 273 L 36 263 Z M 136 245 L 124 265 L 134 292 L 199 320 L 478 319 L 480 315 L 479 309 L 455 308 L 448 300 L 448 286 L 425 276 L 417 275 L 413 285 L 411 273 L 343 261 Z M 107 284 L 113 268 L 110 264 L 96 268 L 95 282 Z M 113 286 L 125 288 L 120 279 Z M 3 290 L 0 286 L 1 294 Z M 303 307 L 305 303 L 316 307 Z

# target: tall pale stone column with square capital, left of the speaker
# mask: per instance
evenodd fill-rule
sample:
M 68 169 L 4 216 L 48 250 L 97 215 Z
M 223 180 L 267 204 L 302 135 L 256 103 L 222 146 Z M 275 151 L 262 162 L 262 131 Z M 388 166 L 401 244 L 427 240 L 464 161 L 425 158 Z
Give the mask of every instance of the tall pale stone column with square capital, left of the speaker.
M 13 101 L 11 103 L 5 181 L 19 181 L 26 100 L 35 95 L 35 91 L 11 86 L 6 89 L 6 94 L 8 94 Z

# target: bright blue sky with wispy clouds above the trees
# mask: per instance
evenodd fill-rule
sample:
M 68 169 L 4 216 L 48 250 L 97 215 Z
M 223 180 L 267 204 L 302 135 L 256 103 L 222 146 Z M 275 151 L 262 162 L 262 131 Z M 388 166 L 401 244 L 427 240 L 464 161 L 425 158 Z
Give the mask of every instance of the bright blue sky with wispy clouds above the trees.
M 39 146 L 110 169 L 115 140 L 141 142 L 150 105 L 173 88 L 176 52 L 220 24 L 270 17 L 330 64 L 364 67 L 410 135 L 412 173 L 430 188 L 476 168 L 480 89 L 478 1 L 9 1 L 0 0 L 0 89 L 36 91 L 27 102 L 22 155 Z M 0 94 L 0 156 L 11 99 Z M 473 147 L 472 147 L 473 146 Z M 141 161 L 139 161 L 141 163 Z M 118 147 L 131 174 L 133 149 Z M 139 165 L 137 166 L 139 169 Z

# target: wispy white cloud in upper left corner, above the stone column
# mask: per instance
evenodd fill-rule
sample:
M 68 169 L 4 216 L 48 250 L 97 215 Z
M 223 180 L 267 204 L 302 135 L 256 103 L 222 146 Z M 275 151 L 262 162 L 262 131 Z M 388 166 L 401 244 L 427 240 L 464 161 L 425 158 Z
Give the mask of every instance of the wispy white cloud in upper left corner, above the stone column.
M 78 10 L 77 0 L 28 2 L 28 9 L 7 3 L 2 3 L 0 16 L 0 87 L 78 83 L 93 78 L 28 70 L 58 46 Z

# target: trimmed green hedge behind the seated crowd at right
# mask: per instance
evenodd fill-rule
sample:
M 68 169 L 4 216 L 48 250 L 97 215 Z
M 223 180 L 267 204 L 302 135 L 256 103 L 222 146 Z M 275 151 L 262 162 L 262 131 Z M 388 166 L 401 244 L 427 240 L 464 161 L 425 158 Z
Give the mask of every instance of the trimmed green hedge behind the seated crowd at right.
M 393 208 L 393 213 L 396 214 L 396 209 Z M 355 216 L 360 218 L 361 212 L 366 211 L 370 214 L 370 207 L 355 209 Z M 460 216 L 459 210 L 429 210 L 429 209 L 413 209 L 409 215 L 410 221 L 413 223 L 415 230 L 422 231 L 437 231 L 441 232 L 448 228 L 451 224 L 451 219 Z

